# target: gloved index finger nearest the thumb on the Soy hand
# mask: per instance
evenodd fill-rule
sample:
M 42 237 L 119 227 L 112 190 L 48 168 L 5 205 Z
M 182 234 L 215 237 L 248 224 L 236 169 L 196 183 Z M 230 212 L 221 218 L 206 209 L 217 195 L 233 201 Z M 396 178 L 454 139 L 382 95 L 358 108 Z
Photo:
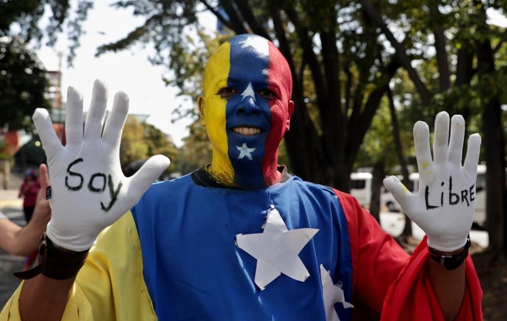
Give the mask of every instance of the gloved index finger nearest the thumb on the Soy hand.
M 104 141 L 113 146 L 120 145 L 123 126 L 125 125 L 125 120 L 127 119 L 128 105 L 128 95 L 124 92 L 116 93 L 113 110 L 111 110 L 111 114 L 107 117 L 104 127 L 104 135 L 102 136 Z

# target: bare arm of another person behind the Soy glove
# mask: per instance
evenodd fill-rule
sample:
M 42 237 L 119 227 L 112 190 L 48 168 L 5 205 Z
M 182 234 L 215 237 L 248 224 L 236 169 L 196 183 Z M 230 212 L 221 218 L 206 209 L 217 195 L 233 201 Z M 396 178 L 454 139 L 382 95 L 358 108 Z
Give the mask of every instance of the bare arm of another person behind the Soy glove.
M 46 187 L 49 185 L 46 165 L 42 164 L 39 172 L 41 189 L 30 222 L 21 227 L 7 219 L 0 220 L 0 248 L 14 255 L 28 256 L 37 250 L 42 233 L 51 218 L 51 209 L 46 200 Z

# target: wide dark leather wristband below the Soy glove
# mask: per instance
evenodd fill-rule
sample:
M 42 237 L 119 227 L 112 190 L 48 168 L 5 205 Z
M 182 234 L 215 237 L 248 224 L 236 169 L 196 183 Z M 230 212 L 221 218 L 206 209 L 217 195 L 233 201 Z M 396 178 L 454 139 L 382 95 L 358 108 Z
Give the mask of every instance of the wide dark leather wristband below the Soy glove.
M 53 244 L 51 239 L 44 233 L 39 244 L 38 265 L 26 271 L 16 272 L 14 275 L 25 280 L 41 273 L 57 280 L 67 279 L 78 274 L 85 264 L 88 251 L 64 251 Z

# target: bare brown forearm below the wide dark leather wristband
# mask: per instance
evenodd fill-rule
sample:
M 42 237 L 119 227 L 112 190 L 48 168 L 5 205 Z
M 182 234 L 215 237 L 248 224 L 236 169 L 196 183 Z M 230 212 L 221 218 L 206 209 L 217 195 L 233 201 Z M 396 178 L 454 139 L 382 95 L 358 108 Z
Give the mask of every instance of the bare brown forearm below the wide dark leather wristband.
M 25 280 L 19 299 L 19 313 L 23 321 L 59 320 L 76 276 L 56 280 L 42 274 Z

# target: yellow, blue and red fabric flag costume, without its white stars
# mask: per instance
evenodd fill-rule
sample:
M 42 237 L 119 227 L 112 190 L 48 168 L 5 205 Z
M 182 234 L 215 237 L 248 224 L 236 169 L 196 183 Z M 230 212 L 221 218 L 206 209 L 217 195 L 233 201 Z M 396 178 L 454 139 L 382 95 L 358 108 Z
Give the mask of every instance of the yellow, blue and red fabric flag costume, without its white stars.
M 238 232 L 261 231 L 270 205 L 289 230 L 319 231 L 299 255 L 308 279 L 280 275 L 261 291 L 253 283 L 256 260 L 234 240 Z M 421 244 L 409 259 L 353 197 L 295 176 L 248 191 L 198 186 L 187 175 L 154 184 L 132 213 L 101 233 L 62 319 L 325 320 L 322 264 L 355 304 L 334 304 L 340 320 L 371 311 L 383 319 L 440 320 Z M 470 258 L 466 264 L 459 319 L 479 320 L 482 291 Z M 16 319 L 19 292 L 2 320 Z

